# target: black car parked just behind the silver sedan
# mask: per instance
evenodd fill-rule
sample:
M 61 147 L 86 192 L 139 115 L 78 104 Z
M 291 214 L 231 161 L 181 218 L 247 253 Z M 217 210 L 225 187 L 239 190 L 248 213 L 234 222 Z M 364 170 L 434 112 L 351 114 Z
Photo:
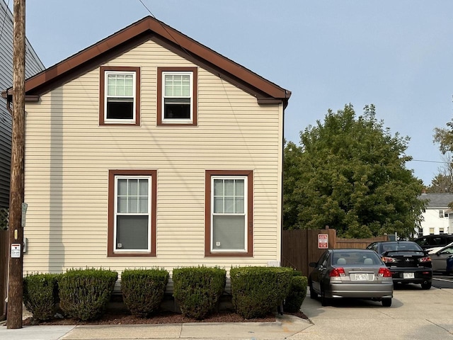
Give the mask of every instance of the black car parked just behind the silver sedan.
M 381 256 L 391 271 L 394 283 L 420 283 L 422 289 L 431 288 L 431 258 L 415 242 L 373 242 L 367 249 L 372 249 Z

